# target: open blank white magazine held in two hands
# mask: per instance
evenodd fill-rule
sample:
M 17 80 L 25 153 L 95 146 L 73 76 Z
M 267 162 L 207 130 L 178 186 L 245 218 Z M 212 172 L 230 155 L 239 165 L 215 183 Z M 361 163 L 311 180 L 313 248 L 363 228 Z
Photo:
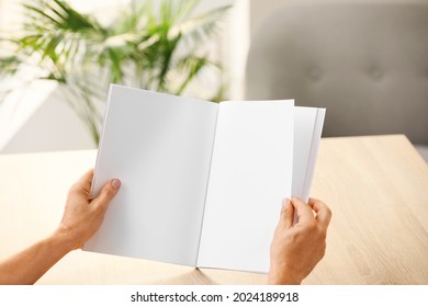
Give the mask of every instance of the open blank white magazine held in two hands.
M 324 115 L 111 86 L 92 193 L 122 186 L 85 250 L 268 272 L 282 200 L 307 198 Z

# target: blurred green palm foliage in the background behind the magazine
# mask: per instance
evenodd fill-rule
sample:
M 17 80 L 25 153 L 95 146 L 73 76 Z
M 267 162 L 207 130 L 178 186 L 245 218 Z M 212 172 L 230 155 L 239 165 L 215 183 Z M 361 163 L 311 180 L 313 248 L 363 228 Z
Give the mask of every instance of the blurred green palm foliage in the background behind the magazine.
M 134 0 L 114 22 L 101 25 L 66 1 L 32 0 L 23 7 L 22 32 L 7 39 L 15 54 L 0 58 L 0 77 L 16 75 L 22 65 L 37 66 L 41 73 L 33 79 L 64 84 L 67 103 L 98 141 L 102 116 L 94 101 L 104 100 L 110 82 L 182 93 L 215 66 L 200 46 L 228 7 L 192 16 L 199 2 Z

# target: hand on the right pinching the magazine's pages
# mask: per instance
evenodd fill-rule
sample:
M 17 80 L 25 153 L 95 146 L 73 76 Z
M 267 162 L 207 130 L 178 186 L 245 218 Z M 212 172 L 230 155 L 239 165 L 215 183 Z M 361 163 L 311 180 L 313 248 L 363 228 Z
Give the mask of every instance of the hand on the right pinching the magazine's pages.
M 295 225 L 294 209 L 299 216 Z M 302 283 L 325 254 L 330 218 L 331 212 L 322 201 L 284 201 L 270 250 L 268 284 Z

